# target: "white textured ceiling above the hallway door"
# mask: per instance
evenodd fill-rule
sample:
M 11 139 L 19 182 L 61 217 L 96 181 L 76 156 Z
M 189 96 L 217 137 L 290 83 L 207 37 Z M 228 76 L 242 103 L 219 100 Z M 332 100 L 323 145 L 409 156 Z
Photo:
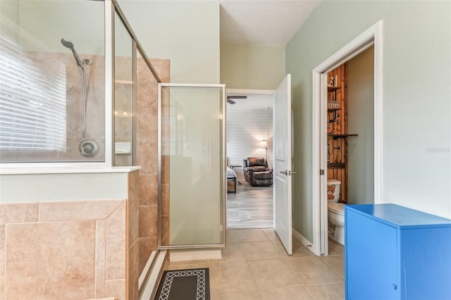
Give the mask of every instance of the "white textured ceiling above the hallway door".
M 321 0 L 220 0 L 221 42 L 285 46 Z

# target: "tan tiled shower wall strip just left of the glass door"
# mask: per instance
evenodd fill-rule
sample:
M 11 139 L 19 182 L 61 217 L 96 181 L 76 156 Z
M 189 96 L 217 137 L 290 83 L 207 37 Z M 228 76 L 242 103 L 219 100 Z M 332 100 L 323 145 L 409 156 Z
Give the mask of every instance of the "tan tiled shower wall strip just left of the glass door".
M 169 82 L 169 61 L 151 59 L 161 82 Z M 158 83 L 142 58 L 137 60 L 137 165 L 140 170 L 140 270 L 157 248 L 158 237 Z M 163 170 L 165 161 L 162 158 Z M 168 215 L 168 189 L 162 190 L 162 216 Z M 164 227 L 163 227 L 164 235 Z

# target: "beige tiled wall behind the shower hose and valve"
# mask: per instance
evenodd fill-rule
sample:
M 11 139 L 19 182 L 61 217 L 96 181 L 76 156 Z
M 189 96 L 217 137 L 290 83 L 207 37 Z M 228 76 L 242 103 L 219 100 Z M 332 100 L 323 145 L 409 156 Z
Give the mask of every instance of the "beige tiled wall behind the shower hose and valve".
M 82 141 L 83 101 L 80 68 L 73 55 L 47 52 L 24 52 L 34 63 L 45 81 L 47 72 L 54 72 L 52 65 L 66 69 L 66 152 L 63 151 L 1 151 L 1 161 L 104 161 L 105 139 L 105 68 L 104 56 L 81 54 L 92 65 L 85 65 L 87 80 L 87 136 L 99 143 L 99 154 L 83 158 L 78 149 Z

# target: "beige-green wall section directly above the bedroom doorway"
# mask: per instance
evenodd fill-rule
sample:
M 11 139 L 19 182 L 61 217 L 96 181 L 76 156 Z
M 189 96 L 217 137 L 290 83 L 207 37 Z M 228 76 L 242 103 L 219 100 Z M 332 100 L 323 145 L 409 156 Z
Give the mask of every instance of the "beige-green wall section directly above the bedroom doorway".
M 285 78 L 285 47 L 221 43 L 221 83 L 231 89 L 277 89 Z

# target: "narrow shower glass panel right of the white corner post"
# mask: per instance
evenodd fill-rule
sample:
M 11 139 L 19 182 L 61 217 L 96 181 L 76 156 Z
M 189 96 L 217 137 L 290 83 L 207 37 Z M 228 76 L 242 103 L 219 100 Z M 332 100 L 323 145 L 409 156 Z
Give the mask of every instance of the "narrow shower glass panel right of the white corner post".
M 114 17 L 114 161 L 133 165 L 133 39 L 118 13 Z

